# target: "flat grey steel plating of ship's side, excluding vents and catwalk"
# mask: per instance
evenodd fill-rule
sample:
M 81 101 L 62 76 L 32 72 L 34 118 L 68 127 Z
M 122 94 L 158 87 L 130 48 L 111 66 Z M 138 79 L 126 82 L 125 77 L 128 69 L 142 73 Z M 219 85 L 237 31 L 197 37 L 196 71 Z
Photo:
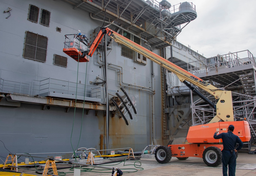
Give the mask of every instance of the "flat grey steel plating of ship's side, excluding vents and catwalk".
M 102 22 L 92 20 L 89 13 L 73 7 L 62 1 L 32 1 L 32 0 L 1 0 L 0 11 L 12 8 L 11 16 L 8 14 L 0 17 L 0 77 L 4 80 L 27 83 L 32 87 L 32 80 L 46 78 L 77 82 L 90 85 L 96 77 L 102 77 L 102 67 L 97 63 L 99 55 L 94 53 L 88 63 L 79 63 L 62 52 L 65 34 L 75 34 L 78 30 L 90 38 L 94 29 L 102 25 Z M 39 8 L 38 22 L 28 20 L 29 5 Z M 40 24 L 41 9 L 50 12 L 49 27 Z M 61 32 L 56 31 L 61 28 Z M 23 57 L 25 32 L 30 31 L 48 38 L 46 62 L 38 62 Z M 142 42 L 143 43 L 143 42 Z M 145 46 L 147 48 L 147 46 Z M 101 51 L 100 51 L 101 52 Z M 155 50 L 159 54 L 159 50 Z M 53 64 L 54 54 L 68 57 L 67 68 Z M 121 56 L 121 46 L 113 42 L 112 50 L 108 51 L 108 63 L 123 67 L 123 81 L 138 86 L 152 88 L 152 62 L 147 60 L 146 65 L 135 63 L 133 60 Z M 88 65 L 87 65 L 88 64 Z M 87 66 L 86 66 L 87 65 Z M 87 67 L 87 73 L 86 73 Z M 160 66 L 154 63 L 154 109 L 155 109 L 155 135 L 157 139 L 162 138 L 162 105 L 161 105 L 161 78 Z M 108 69 L 109 98 L 120 91 L 119 74 L 117 69 Z M 109 118 L 109 148 L 132 147 L 134 151 L 142 151 L 152 143 L 152 93 L 124 88 L 131 98 L 137 114 L 133 120 L 127 117 L 129 125 L 125 125 L 122 118 L 115 115 Z M 102 99 L 104 98 L 101 87 Z M 29 93 L 30 94 L 30 93 Z M 123 95 L 123 94 L 122 94 Z M 95 116 L 95 111 L 90 110 L 88 114 L 82 109 L 49 106 L 42 110 L 42 105 L 24 103 L 12 105 L 4 103 L 0 105 L 0 139 L 5 147 L 12 153 L 37 153 L 37 152 L 70 152 L 78 145 L 86 148 L 100 149 L 100 135 L 105 133 L 105 117 L 103 111 Z M 102 101 L 101 103 L 104 103 Z M 8 104 L 8 105 L 7 105 Z M 19 104 L 19 103 L 18 103 Z M 82 113 L 83 121 L 82 121 Z M 111 112 L 110 112 L 111 114 Z M 74 119 L 74 121 L 73 121 Z M 72 124 L 74 125 L 71 137 Z M 105 141 L 105 140 L 104 140 Z M 2 159 L 9 151 L 0 143 L 0 156 Z M 161 144 L 161 142 L 159 143 Z M 105 143 L 104 143 L 105 145 Z M 68 158 L 70 156 L 66 156 Z

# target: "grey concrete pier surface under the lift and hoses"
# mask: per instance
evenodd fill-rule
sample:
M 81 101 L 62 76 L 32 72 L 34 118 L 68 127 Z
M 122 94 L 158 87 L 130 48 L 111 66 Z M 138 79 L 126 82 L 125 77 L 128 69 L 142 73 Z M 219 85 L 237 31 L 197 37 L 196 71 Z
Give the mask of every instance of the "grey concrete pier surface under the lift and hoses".
M 66 165 L 68 166 L 68 164 Z M 71 166 L 71 165 L 69 165 Z M 125 162 L 109 163 L 99 165 L 107 168 L 120 168 L 125 176 L 216 176 L 222 175 L 222 164 L 217 167 L 207 166 L 202 158 L 189 157 L 186 160 L 178 160 L 172 157 L 170 162 L 159 164 L 155 158 L 141 158 L 138 160 L 126 160 Z M 58 167 L 62 167 L 57 165 Z M 64 167 L 64 166 L 63 166 Z M 43 169 L 38 167 L 37 169 Z M 35 169 L 35 168 L 30 168 Z M 77 168 L 76 175 L 88 176 L 111 176 L 111 170 L 82 167 Z M 49 169 L 50 170 L 50 169 Z M 77 173 L 78 171 L 78 173 Z M 18 169 L 18 172 L 23 172 L 32 175 L 42 175 L 32 170 Z M 80 174 L 79 174 L 80 172 Z M 73 176 L 74 169 L 58 169 L 58 175 Z M 236 176 L 255 176 L 256 175 L 256 155 L 248 154 L 246 151 L 239 151 L 236 166 Z

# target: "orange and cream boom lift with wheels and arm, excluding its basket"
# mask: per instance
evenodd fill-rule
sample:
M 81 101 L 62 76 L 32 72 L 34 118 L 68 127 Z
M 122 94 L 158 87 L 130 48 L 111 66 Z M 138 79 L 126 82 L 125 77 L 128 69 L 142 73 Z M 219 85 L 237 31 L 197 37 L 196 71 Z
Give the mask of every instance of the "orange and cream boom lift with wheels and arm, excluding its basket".
M 216 88 L 109 28 L 102 28 L 99 31 L 88 50 L 90 57 L 93 55 L 104 34 L 110 36 L 115 42 L 131 48 L 135 52 L 175 73 L 180 81 L 216 110 L 216 116 L 207 125 L 189 127 L 186 138 L 188 143 L 159 146 L 155 151 L 155 158 L 159 163 L 167 163 L 172 157 L 177 157 L 180 160 L 185 160 L 188 157 L 199 157 L 203 158 L 208 166 L 218 166 L 221 163 L 223 145 L 221 143 L 222 140 L 214 139 L 213 135 L 216 131 L 219 131 L 219 133 L 227 132 L 227 128 L 231 124 L 235 126 L 233 133 L 238 135 L 242 142 L 250 140 L 249 123 L 247 121 L 234 121 L 231 91 Z M 218 100 L 217 104 L 215 105 L 207 99 L 187 81 L 213 95 Z

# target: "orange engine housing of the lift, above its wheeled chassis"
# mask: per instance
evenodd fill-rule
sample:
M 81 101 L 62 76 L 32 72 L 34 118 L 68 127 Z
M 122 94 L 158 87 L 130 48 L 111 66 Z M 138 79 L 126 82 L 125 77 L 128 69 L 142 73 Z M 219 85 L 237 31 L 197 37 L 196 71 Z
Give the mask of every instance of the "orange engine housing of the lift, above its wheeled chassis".
M 227 133 L 229 125 L 234 125 L 235 129 L 233 133 L 237 135 L 242 140 L 242 142 L 248 142 L 251 139 L 249 123 L 247 121 L 234 121 L 190 126 L 187 134 L 187 141 L 189 143 L 222 142 L 221 139 L 214 139 L 213 135 L 216 131 L 219 131 L 219 133 Z

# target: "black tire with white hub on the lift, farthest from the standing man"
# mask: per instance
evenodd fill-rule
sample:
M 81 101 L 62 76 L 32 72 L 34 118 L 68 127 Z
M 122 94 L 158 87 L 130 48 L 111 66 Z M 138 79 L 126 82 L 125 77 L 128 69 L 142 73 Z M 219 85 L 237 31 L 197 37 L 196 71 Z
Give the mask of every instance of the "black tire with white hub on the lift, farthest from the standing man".
M 159 146 L 155 151 L 155 158 L 161 164 L 167 163 L 172 158 L 172 151 L 169 147 Z

